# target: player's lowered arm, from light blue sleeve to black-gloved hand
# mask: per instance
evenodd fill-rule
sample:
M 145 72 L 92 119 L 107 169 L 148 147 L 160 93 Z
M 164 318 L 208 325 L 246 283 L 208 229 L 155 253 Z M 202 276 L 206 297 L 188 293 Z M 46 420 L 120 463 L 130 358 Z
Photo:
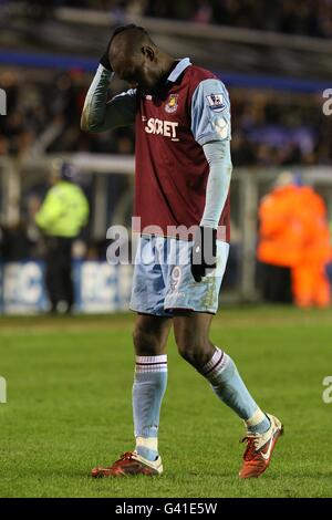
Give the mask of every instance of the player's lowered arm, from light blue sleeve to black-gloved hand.
M 193 96 L 191 131 L 209 165 L 206 201 L 195 237 L 191 272 L 200 281 L 216 267 L 217 228 L 225 207 L 232 171 L 230 156 L 230 103 L 219 80 L 203 81 Z

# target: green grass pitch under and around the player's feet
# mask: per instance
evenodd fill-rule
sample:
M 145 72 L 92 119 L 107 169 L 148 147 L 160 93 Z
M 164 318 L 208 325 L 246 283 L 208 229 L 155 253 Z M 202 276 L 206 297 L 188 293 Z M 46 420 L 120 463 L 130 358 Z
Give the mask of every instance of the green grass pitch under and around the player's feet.
M 0 497 L 331 497 L 332 311 L 221 309 L 212 340 L 282 419 L 270 468 L 240 481 L 241 422 L 176 353 L 160 423 L 160 478 L 93 480 L 132 449 L 132 315 L 0 319 Z

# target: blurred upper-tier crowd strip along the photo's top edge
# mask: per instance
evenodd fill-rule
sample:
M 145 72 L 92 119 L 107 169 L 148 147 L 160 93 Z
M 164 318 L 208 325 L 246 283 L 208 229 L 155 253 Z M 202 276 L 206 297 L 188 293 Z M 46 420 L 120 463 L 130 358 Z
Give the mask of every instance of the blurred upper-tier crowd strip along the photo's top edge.
M 2 4 L 10 0 L 1 0 Z M 331 0 L 30 0 L 24 9 L 31 15 L 49 15 L 52 7 L 103 10 L 120 21 L 126 15 L 168 18 L 261 29 L 286 34 L 332 37 Z

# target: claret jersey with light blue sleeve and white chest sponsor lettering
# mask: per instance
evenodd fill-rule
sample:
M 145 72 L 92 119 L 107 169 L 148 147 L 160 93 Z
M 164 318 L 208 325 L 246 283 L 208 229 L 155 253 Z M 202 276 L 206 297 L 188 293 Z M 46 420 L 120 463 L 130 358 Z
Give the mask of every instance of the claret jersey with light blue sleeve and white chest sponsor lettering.
M 230 103 L 211 72 L 180 60 L 157 94 L 125 95 L 135 114 L 136 177 L 134 215 L 141 229 L 199 225 L 209 165 L 206 143 L 230 139 Z M 230 158 L 229 158 L 230 160 Z M 229 241 L 229 197 L 219 220 Z

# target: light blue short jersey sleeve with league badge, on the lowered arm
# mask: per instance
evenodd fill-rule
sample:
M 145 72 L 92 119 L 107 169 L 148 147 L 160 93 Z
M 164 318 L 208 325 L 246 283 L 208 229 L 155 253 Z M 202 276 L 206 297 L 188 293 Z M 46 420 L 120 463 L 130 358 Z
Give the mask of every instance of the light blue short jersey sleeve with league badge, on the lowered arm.
M 196 87 L 191 100 L 191 132 L 200 146 L 231 138 L 229 95 L 220 80 L 204 80 Z

